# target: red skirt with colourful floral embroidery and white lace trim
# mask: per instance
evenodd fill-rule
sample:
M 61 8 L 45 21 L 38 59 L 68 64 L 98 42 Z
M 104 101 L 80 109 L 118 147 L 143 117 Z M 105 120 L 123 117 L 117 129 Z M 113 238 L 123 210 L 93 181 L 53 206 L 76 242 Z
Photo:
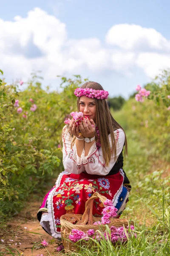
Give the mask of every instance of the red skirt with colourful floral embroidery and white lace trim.
M 89 175 L 82 172 L 75 175 L 68 172 L 60 173 L 55 186 L 45 195 L 37 217 L 44 229 L 51 236 L 61 237 L 60 217 L 66 213 L 83 214 L 85 202 L 94 192 L 104 195 L 113 201 L 116 207 L 123 190 L 124 173 L 122 169 L 117 174 L 109 176 Z M 103 204 L 98 199 L 94 201 L 93 215 L 101 216 Z M 42 212 L 45 214 L 42 215 Z M 119 216 L 117 216 L 119 217 Z M 49 221 L 49 228 L 45 228 Z

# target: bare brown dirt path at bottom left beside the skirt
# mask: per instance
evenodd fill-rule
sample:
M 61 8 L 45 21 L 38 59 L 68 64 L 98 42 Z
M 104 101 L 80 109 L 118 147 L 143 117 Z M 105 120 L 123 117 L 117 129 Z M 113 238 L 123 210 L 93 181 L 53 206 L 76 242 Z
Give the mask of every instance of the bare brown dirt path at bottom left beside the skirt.
M 39 202 L 29 203 L 26 209 L 11 219 L 12 223 L 8 223 L 5 232 L 0 231 L 0 237 L 3 240 L 0 241 L 0 256 L 12 255 L 5 247 L 15 253 L 13 255 L 37 256 L 43 254 L 43 256 L 47 256 L 48 252 L 51 255 L 57 255 L 55 248 L 61 242 L 51 238 L 40 226 L 36 216 L 39 207 Z M 49 243 L 46 247 L 48 252 L 40 244 L 44 239 Z M 19 253 L 13 249 L 17 249 Z

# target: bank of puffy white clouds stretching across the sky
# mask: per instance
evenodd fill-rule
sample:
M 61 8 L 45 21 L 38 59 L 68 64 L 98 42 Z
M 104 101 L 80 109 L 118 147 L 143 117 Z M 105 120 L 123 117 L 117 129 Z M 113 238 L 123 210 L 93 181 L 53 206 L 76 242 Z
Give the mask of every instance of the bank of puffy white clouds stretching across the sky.
M 98 38 L 70 39 L 66 25 L 40 8 L 14 21 L 0 19 L 1 69 L 10 78 L 27 79 L 42 70 L 46 81 L 58 74 L 103 71 L 134 76 L 140 68 L 154 77 L 170 67 L 170 41 L 151 28 L 118 24 L 106 33 L 106 45 Z

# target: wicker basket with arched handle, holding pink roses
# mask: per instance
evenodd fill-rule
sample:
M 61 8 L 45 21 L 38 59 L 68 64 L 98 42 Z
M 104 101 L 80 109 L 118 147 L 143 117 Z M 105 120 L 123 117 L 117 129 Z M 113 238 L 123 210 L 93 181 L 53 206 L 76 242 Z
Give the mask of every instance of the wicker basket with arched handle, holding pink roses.
M 85 203 L 85 212 L 83 215 L 81 214 L 65 214 L 62 215 L 60 218 L 61 222 L 61 237 L 62 237 L 62 243 L 65 248 L 65 252 L 73 252 L 77 250 L 77 246 L 79 246 L 79 242 L 74 244 L 70 239 L 69 235 L 71 234 L 72 229 L 77 229 L 81 231 L 88 231 L 89 229 L 99 230 L 103 229 L 105 230 L 105 225 L 93 225 L 95 221 L 101 221 L 101 217 L 95 217 L 92 215 L 93 210 L 93 203 L 94 200 L 99 198 L 102 203 L 105 202 L 107 198 L 105 196 L 100 195 L 99 193 L 95 192 L 94 195 L 88 199 Z M 133 225 L 133 221 L 127 221 L 127 219 L 116 219 L 116 218 L 110 218 L 111 223 L 108 224 L 108 227 L 115 226 L 115 227 L 127 227 L 129 224 Z M 76 224 L 74 224 L 76 222 Z

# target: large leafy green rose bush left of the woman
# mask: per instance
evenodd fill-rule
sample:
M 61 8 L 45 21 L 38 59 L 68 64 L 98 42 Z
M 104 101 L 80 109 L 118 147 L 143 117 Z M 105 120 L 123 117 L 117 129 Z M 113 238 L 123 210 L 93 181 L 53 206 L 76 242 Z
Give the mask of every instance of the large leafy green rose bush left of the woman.
M 0 71 L 1 72 L 1 71 Z M 3 72 L 1 72 L 3 74 Z M 42 90 L 35 73 L 28 87 L 0 85 L 0 218 L 16 214 L 31 192 L 42 189 L 53 172 L 60 172 L 60 135 L 64 119 L 77 109 L 74 89 L 82 83 L 62 77 L 61 93 Z M 31 101 L 30 101 L 31 99 Z M 19 100 L 15 107 L 15 100 Z M 37 109 L 31 111 L 35 104 Z M 17 109 L 22 108 L 21 113 Z M 56 175 L 57 176 L 57 175 Z

